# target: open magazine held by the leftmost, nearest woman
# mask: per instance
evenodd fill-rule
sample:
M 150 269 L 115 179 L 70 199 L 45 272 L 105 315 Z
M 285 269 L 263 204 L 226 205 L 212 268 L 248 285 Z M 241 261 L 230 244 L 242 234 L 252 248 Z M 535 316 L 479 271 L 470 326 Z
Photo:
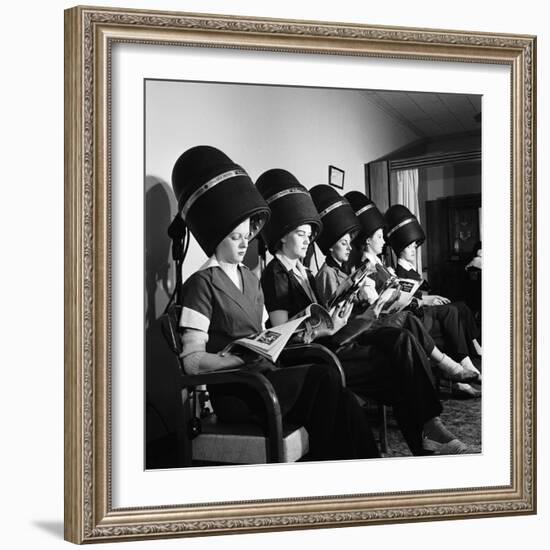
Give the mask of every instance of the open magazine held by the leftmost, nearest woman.
M 241 346 L 275 362 L 293 335 L 302 342 L 309 342 L 312 340 L 311 334 L 314 330 L 332 327 L 332 319 L 328 311 L 319 304 L 310 304 L 282 325 L 231 342 L 222 353 Z

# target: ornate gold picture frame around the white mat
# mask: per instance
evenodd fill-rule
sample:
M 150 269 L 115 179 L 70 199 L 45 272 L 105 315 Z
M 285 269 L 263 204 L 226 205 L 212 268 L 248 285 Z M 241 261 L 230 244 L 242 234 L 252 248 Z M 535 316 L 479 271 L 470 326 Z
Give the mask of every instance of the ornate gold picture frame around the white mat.
M 484 487 L 113 504 L 113 47 L 219 48 L 500 65 L 511 73 L 510 482 Z M 75 7 L 65 12 L 65 538 L 103 542 L 536 511 L 536 38 Z M 502 184 L 502 182 L 500 182 Z M 136 367 L 136 373 L 139 372 Z M 137 374 L 141 376 L 141 374 Z

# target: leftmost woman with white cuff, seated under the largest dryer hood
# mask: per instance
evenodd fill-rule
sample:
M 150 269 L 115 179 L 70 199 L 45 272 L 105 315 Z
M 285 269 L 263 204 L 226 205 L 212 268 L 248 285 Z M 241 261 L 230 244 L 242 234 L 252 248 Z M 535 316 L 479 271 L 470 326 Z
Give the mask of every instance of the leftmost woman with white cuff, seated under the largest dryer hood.
M 309 460 L 379 456 L 363 411 L 332 366 L 279 368 L 253 354 L 222 352 L 233 340 L 262 328 L 260 282 L 242 260 L 269 208 L 246 172 L 221 151 L 199 146 L 179 157 L 172 185 L 187 227 L 210 257 L 183 288 L 185 370 L 242 367 L 262 372 L 275 389 L 283 420 L 306 428 Z M 263 423 L 261 404 L 241 386 L 215 385 L 209 393 L 220 421 L 255 418 Z

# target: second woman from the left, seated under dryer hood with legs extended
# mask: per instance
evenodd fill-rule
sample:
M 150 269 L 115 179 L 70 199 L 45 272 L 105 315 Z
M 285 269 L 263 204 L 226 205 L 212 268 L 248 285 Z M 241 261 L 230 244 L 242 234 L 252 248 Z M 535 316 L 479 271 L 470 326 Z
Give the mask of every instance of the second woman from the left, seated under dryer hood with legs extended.
M 286 170 L 269 170 L 260 176 L 256 185 L 272 210 L 272 218 L 264 226 L 262 236 L 274 258 L 262 275 L 262 288 L 269 320 L 277 326 L 318 301 L 314 280 L 301 260 L 321 227 L 318 242 L 323 247 L 328 242 L 329 246 L 333 245 L 338 237 L 356 230 L 358 225 L 347 205 L 352 223 L 351 226 L 344 223 L 342 229 L 337 210 L 347 201 L 341 198 L 328 200 L 317 212 L 306 188 Z M 333 221 L 339 227 L 338 235 L 334 239 L 329 236 L 325 241 Z M 372 342 L 360 344 L 355 340 L 342 346 L 338 345 L 341 331 L 345 331 L 345 327 L 328 335 L 328 344 L 333 344 L 342 361 L 348 387 L 359 395 L 376 394 L 392 405 L 413 454 L 423 455 L 432 450 L 441 454 L 468 452 L 468 447 L 450 433 L 439 418 L 442 407 L 427 357 L 410 332 L 384 327 L 377 331 Z M 318 335 L 323 336 L 327 335 Z

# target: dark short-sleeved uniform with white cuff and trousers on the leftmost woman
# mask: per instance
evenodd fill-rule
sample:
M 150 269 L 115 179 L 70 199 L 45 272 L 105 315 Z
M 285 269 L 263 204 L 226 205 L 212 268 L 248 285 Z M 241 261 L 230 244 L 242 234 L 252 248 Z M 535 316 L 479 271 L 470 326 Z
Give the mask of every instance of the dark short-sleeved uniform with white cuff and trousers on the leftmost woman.
M 217 353 L 233 340 L 262 330 L 260 282 L 244 266 L 240 274 L 242 292 L 215 263 L 184 284 L 180 325 L 203 334 L 207 352 Z M 307 429 L 311 460 L 379 456 L 364 414 L 355 397 L 342 387 L 336 369 L 329 365 L 279 368 L 264 359 L 249 366 L 272 383 L 283 420 Z M 252 416 L 263 422 L 261 404 L 240 386 L 216 385 L 209 393 L 220 421 L 249 421 Z

